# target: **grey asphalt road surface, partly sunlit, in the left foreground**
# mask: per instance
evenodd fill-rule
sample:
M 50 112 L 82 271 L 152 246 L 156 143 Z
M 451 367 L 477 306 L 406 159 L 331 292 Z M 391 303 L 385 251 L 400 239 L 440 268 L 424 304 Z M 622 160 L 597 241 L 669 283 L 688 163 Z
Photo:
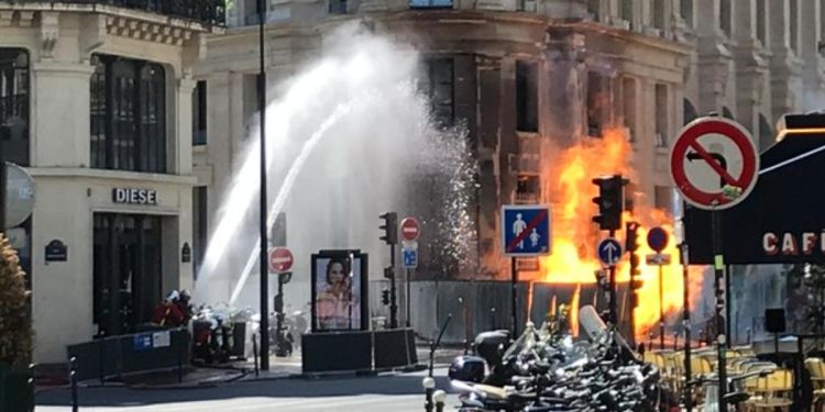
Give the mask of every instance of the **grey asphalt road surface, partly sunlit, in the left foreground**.
M 444 370 L 437 376 L 443 377 Z M 129 389 L 123 387 L 81 388 L 81 412 L 109 411 L 392 411 L 424 410 L 421 379 L 425 372 L 377 377 L 282 379 L 239 381 L 193 389 Z M 446 378 L 437 379 L 447 389 Z M 37 412 L 70 411 L 67 390 L 37 394 Z M 457 399 L 448 398 L 444 410 L 453 410 Z

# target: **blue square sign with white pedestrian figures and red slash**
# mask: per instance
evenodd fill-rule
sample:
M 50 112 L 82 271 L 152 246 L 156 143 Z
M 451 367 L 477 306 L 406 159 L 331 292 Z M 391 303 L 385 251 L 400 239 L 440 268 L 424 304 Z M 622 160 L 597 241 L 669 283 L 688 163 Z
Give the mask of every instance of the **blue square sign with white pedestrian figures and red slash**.
M 542 256 L 551 252 L 550 207 L 505 204 L 502 208 L 502 244 L 506 256 Z

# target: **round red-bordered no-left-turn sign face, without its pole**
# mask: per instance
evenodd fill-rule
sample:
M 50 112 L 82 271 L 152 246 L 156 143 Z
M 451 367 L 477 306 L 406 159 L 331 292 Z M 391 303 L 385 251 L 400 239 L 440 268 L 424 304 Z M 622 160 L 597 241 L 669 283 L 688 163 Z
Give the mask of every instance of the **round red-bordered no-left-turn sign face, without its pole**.
M 728 170 L 734 165 L 739 170 Z M 704 169 L 704 177 L 689 169 Z M 759 156 L 750 134 L 723 118 L 691 122 L 670 152 L 670 172 L 676 189 L 685 201 L 701 209 L 727 209 L 743 201 L 756 186 L 758 170 Z M 708 181 L 717 187 L 708 189 Z M 738 189 L 738 193 L 726 193 L 726 187 Z

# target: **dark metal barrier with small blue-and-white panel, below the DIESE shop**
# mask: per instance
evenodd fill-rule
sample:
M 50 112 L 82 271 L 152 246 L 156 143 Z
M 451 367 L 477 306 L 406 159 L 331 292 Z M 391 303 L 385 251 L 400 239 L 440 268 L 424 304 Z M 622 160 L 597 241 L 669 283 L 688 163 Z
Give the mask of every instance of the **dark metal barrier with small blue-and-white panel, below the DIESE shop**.
M 101 337 L 69 345 L 68 358 L 77 359 L 78 381 L 177 369 L 178 380 L 189 364 L 190 337 L 186 329 L 160 330 Z

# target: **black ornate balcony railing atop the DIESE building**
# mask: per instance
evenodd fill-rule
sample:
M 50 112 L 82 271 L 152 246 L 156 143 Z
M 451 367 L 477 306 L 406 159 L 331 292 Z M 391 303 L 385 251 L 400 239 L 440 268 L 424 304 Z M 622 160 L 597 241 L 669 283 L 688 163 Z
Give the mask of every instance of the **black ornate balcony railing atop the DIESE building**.
M 13 0 L 13 3 L 42 3 L 45 0 Z M 174 18 L 197 21 L 207 25 L 227 24 L 226 0 L 65 0 L 52 3 L 107 4 L 124 9 L 142 10 Z

